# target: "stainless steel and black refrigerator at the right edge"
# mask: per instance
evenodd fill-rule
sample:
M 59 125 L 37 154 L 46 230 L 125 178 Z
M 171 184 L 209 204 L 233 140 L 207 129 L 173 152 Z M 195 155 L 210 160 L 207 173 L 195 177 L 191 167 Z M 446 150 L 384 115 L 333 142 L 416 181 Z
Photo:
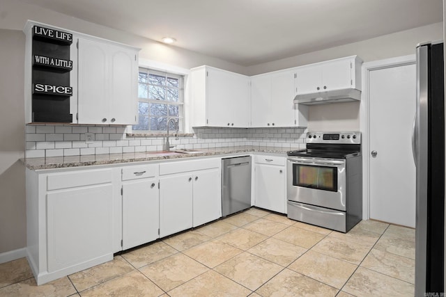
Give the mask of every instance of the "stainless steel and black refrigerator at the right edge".
M 415 296 L 444 291 L 445 104 L 443 42 L 417 46 Z

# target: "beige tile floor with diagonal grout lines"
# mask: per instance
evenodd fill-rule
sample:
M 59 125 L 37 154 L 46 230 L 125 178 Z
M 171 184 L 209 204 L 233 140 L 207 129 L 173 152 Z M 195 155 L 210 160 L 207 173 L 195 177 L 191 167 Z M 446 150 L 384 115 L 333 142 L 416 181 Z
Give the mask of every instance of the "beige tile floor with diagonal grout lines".
M 347 234 L 251 208 L 36 286 L 0 264 L 0 296 L 413 296 L 415 230 L 366 220 Z

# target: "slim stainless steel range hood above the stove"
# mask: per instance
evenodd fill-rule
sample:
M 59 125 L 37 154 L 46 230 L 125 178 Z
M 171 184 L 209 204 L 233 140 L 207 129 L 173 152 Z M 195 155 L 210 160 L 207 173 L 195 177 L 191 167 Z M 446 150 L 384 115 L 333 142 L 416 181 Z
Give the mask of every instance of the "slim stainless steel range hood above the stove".
M 304 105 L 351 102 L 361 99 L 361 91 L 354 88 L 328 90 L 325 92 L 297 95 L 293 102 Z

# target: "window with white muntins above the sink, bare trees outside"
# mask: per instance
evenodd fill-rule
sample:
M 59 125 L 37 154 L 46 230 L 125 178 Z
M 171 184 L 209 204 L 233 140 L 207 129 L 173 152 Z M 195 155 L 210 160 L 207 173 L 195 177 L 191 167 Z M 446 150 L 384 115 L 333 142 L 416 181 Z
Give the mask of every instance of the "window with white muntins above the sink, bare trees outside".
M 183 76 L 139 68 L 138 97 L 139 123 L 135 131 L 167 131 L 171 118 L 183 130 Z M 169 129 L 176 129 L 171 121 Z

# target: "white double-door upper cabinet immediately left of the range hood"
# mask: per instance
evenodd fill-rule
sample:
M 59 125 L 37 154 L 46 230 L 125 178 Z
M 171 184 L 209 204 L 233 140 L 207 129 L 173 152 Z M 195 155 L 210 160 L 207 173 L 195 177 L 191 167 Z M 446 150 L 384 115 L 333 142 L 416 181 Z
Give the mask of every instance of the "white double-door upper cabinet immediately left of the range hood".
M 294 104 L 295 69 L 251 77 L 251 127 L 306 127 L 308 107 Z

